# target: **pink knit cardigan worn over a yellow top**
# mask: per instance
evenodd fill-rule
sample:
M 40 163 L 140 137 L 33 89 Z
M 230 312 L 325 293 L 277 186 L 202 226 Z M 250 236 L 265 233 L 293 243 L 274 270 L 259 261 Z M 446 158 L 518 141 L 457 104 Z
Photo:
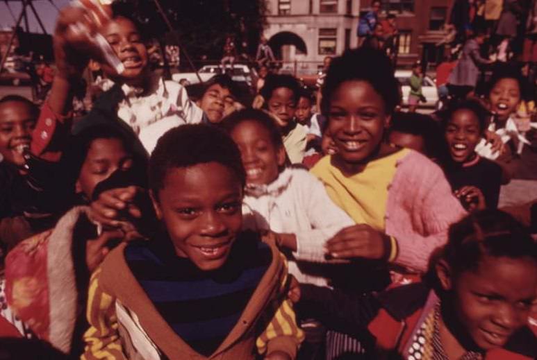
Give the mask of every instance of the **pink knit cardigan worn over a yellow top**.
M 467 213 L 443 171 L 424 155 L 411 151 L 396 166 L 388 186 L 385 231 L 397 239 L 395 263 L 425 271 L 431 252 L 446 243 L 449 225 Z

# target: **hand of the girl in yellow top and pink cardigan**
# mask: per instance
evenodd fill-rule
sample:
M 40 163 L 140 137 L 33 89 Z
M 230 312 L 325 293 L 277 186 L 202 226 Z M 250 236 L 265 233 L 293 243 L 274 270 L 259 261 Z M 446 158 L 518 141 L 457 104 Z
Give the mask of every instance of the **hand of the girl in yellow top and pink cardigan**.
M 389 249 L 388 235 L 367 224 L 343 228 L 324 244 L 327 253 L 336 259 L 382 259 Z

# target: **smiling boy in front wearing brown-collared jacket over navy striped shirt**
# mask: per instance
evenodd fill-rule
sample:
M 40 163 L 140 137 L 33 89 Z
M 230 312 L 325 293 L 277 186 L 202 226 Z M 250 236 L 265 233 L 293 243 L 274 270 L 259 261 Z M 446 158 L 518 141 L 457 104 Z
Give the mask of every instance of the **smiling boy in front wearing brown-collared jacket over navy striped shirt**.
M 283 255 L 241 232 L 245 170 L 216 128 L 167 132 L 149 165 L 165 229 L 123 243 L 92 277 L 82 359 L 294 359 L 303 337 Z

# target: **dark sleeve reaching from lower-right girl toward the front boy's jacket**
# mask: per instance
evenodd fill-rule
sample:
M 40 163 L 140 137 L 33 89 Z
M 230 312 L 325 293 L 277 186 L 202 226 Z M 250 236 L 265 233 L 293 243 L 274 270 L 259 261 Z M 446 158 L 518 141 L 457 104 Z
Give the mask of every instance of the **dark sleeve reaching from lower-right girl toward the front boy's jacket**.
M 328 329 L 361 337 L 377 315 L 380 302 L 372 293 L 347 295 L 337 289 L 301 284 L 297 309 Z

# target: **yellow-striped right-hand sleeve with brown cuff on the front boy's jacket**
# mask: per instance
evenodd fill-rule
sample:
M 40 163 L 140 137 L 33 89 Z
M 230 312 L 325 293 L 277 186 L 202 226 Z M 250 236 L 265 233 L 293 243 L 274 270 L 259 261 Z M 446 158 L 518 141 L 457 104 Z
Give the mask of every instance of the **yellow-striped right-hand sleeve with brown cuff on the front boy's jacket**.
M 273 302 L 274 316 L 272 316 L 263 333 L 258 336 L 256 347 L 259 354 L 282 351 L 288 354 L 291 359 L 295 359 L 298 347 L 304 341 L 304 332 L 297 325 L 295 310 L 292 308 L 292 302 L 287 295 L 287 260 L 281 253 L 280 256 L 286 264 L 286 275 L 282 276 L 280 284 L 280 293 L 285 293 L 285 295 L 283 296 L 283 301 L 279 298 L 278 301 Z

